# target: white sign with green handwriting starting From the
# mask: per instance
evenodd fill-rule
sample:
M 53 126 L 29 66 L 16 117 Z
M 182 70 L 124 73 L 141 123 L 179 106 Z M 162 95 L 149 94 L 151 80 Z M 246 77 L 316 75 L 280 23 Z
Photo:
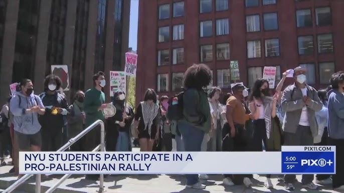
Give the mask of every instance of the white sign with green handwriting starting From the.
M 126 75 L 124 71 L 110 71 L 110 96 L 117 90 L 126 91 Z

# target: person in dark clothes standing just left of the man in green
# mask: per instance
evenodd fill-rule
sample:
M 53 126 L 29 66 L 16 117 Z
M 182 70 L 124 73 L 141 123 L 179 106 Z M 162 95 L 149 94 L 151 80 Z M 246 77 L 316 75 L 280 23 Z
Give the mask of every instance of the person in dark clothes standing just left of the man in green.
M 84 112 L 84 98 L 85 93 L 81 90 L 78 90 L 75 93 L 73 104 L 69 106 L 69 114 L 67 116 L 68 122 L 68 136 L 75 137 L 85 128 L 85 119 L 86 115 Z M 71 151 L 84 151 L 84 137 L 81 137 L 77 140 L 71 147 Z

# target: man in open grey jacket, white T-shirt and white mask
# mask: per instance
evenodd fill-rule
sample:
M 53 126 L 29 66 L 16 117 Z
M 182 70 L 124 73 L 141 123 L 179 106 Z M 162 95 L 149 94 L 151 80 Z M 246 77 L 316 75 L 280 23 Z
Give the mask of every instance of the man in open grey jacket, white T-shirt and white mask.
M 306 84 L 306 69 L 294 69 L 295 83 L 287 86 L 282 95 L 281 105 L 285 112 L 283 119 L 284 145 L 313 145 L 313 138 L 318 135 L 315 112 L 321 110 L 322 103 L 317 90 Z M 317 189 L 312 181 L 313 174 L 302 175 L 302 187 Z M 293 190 L 295 174 L 285 174 L 286 190 Z

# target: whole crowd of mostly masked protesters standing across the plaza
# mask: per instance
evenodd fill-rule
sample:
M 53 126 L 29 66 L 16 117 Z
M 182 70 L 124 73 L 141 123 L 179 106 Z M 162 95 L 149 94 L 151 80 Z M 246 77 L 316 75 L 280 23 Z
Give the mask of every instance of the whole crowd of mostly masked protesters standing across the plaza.
M 336 174 L 317 174 L 316 183 L 343 190 L 344 71 L 332 74 L 329 86 L 321 90 L 308 85 L 306 77 L 305 68 L 296 67 L 293 84 L 284 85 L 284 72 L 275 89 L 269 88 L 268 80 L 258 78 L 252 88 L 233 83 L 231 92 L 223 94 L 219 87 L 206 89 L 212 81 L 211 70 L 206 64 L 194 64 L 184 74 L 181 93 L 160 97 L 149 88 L 135 111 L 125 104 L 126 93 L 116 91 L 112 117 L 102 112 L 107 106 L 103 72 L 93 75 L 93 88 L 75 93 L 71 105 L 59 92 L 58 76 L 46 77 L 40 95 L 33 94 L 32 81 L 24 79 L 0 113 L 9 128 L 2 129 L 0 157 L 12 141 L 11 172 L 18 174 L 18 151 L 55 151 L 100 119 L 106 123 L 107 151 L 131 151 L 132 136 L 138 139 L 140 151 L 280 151 L 282 145 L 335 145 Z M 100 126 L 70 150 L 91 151 L 99 143 Z M 98 177 L 86 175 L 90 180 Z M 186 186 L 205 188 L 200 179 L 208 178 L 207 174 L 186 174 Z M 224 174 L 223 183 L 250 187 L 252 178 L 252 174 Z M 294 189 L 295 175 L 278 178 L 286 190 Z M 317 189 L 313 179 L 314 175 L 303 174 L 302 187 Z M 271 174 L 266 175 L 265 186 L 273 188 Z

